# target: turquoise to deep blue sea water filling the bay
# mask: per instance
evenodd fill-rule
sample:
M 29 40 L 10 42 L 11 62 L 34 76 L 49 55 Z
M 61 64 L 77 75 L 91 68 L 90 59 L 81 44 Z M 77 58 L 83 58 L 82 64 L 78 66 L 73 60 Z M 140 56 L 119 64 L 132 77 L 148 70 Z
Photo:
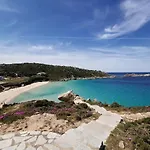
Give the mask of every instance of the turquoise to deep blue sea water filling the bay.
M 59 102 L 58 95 L 73 90 L 85 99 L 96 99 L 103 103 L 117 102 L 126 107 L 150 106 L 150 77 L 123 77 L 127 73 L 109 74 L 116 78 L 50 82 L 20 94 L 13 102 L 43 99 Z

